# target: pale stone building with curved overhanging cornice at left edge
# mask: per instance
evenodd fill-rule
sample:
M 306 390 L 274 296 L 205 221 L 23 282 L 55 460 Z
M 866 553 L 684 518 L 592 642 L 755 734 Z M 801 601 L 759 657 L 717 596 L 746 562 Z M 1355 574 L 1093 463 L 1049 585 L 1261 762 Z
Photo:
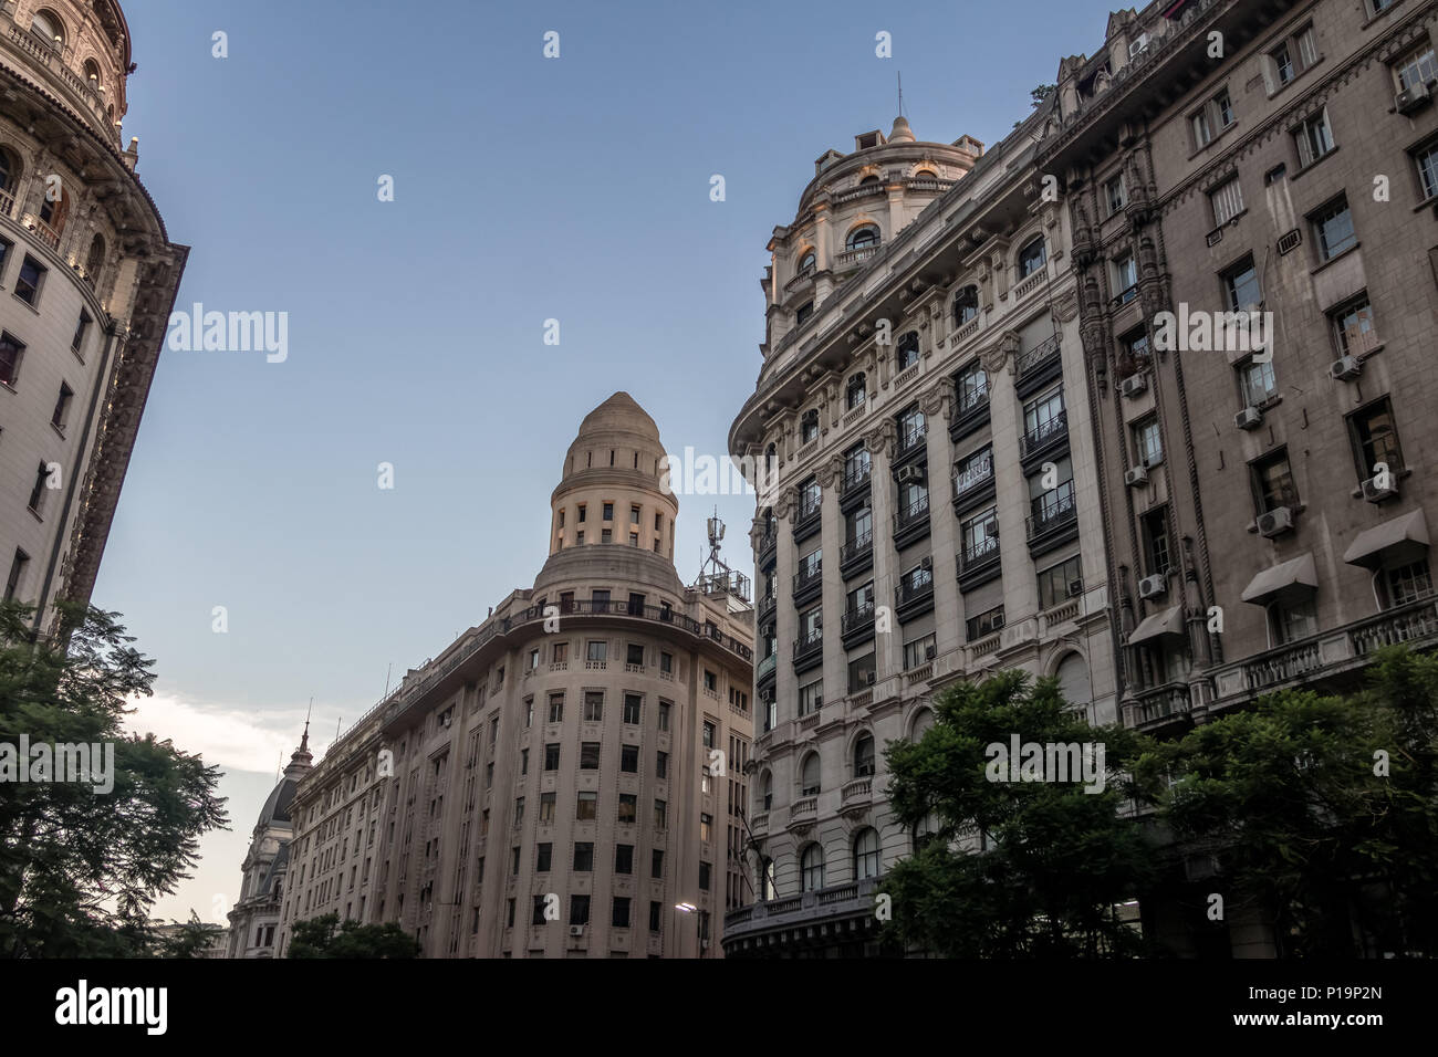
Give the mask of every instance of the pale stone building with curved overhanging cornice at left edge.
M 115 0 L 0 6 L 0 575 L 53 627 L 86 603 L 188 247 L 121 150 Z

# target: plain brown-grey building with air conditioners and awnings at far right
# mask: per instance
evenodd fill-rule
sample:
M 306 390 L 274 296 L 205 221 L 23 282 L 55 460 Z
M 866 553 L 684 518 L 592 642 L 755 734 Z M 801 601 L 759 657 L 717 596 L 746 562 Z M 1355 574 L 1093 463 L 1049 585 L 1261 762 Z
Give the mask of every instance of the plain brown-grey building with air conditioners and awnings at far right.
M 1060 65 L 1040 168 L 1074 230 L 1130 726 L 1349 690 L 1380 646 L 1438 643 L 1435 30 L 1431 0 L 1169 0 Z M 1158 347 L 1159 312 L 1254 309 L 1257 355 L 1217 326 Z M 1205 922 L 1221 861 L 1178 853 L 1146 932 L 1281 952 L 1263 909 Z M 1355 936 L 1402 949 L 1396 928 Z

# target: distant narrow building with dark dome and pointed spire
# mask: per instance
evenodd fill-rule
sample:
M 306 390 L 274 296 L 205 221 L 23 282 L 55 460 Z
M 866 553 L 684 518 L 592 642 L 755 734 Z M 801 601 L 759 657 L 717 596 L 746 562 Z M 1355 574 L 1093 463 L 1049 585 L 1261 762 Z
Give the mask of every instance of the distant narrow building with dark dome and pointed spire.
M 301 779 L 313 765 L 309 752 L 309 723 L 299 748 L 260 808 L 250 831 L 250 850 L 244 856 L 240 897 L 230 910 L 230 958 L 273 958 L 279 929 L 285 879 L 289 873 L 289 846 L 295 831 L 290 805 Z

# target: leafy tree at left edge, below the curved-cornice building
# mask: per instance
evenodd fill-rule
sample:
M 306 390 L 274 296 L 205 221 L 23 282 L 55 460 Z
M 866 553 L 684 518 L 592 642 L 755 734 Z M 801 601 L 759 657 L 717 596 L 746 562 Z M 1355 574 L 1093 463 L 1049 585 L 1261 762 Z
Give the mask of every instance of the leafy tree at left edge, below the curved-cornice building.
M 119 614 L 62 604 L 60 633 L 36 639 L 32 613 L 0 604 L 0 751 L 29 767 L 22 735 L 30 746 L 112 745 L 114 787 L 89 781 L 101 761 L 83 782 L 0 781 L 0 955 L 142 955 L 150 906 L 190 876 L 200 836 L 229 821 L 219 769 L 122 731 L 154 662 Z

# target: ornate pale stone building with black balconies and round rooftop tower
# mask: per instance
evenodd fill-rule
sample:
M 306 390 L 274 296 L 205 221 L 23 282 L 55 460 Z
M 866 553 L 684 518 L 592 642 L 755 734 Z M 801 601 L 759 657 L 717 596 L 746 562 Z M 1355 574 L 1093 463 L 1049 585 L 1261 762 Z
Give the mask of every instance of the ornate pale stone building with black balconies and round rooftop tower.
M 884 800 L 883 746 L 939 690 L 1018 667 L 1117 716 L 1068 213 L 1034 167 L 1051 108 L 988 152 L 900 116 L 820 157 L 774 229 L 729 433 L 777 476 L 752 534 L 756 902 L 729 956 L 877 952 L 873 890 L 926 833 Z

